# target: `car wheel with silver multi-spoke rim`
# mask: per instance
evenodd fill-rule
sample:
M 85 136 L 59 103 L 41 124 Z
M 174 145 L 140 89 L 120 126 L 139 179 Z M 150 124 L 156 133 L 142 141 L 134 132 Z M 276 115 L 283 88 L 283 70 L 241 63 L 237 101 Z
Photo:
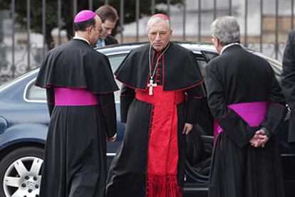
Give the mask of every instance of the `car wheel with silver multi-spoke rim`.
M 39 196 L 43 149 L 24 147 L 0 162 L 0 196 Z

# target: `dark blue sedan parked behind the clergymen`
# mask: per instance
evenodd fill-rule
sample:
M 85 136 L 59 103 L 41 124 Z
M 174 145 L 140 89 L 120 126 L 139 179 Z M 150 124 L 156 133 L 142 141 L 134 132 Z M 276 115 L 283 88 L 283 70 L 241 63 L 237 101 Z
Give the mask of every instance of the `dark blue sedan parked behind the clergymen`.
M 130 50 L 142 44 L 108 46 L 96 50 L 108 56 L 112 69 L 115 70 Z M 218 55 L 214 46 L 210 43 L 182 42 L 179 44 L 195 53 L 205 78 L 207 63 Z M 268 60 L 279 80 L 281 64 L 262 53 L 250 51 Z M 34 85 L 37 74 L 38 69 L 31 70 L 0 87 L 0 196 L 38 196 L 49 115 L 46 92 Z M 120 82 L 118 85 L 120 86 Z M 115 143 L 108 144 L 108 166 L 124 136 L 124 126 L 120 124 L 119 117 L 119 93 L 115 93 L 118 139 Z M 187 136 L 184 196 L 207 195 L 213 148 L 213 121 L 206 101 L 201 111 L 202 119 L 195 124 L 194 130 Z M 279 138 L 287 196 L 294 196 L 295 147 L 286 142 L 287 124 L 288 118 L 279 127 Z

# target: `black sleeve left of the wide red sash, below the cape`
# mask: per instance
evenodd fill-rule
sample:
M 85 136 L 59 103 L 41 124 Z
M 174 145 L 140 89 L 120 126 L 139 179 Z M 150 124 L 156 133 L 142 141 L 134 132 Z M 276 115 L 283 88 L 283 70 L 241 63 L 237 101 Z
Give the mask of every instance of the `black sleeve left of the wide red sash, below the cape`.
M 121 115 L 121 122 L 126 123 L 127 121 L 127 114 L 128 108 L 130 103 L 133 101 L 135 97 L 135 90 L 122 85 L 121 92 L 120 92 L 120 115 Z

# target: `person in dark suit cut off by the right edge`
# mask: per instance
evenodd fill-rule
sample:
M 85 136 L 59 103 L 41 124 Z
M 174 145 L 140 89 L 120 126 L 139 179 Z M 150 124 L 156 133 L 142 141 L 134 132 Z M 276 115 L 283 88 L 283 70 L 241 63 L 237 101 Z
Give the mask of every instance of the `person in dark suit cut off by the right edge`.
M 286 41 L 283 58 L 283 73 L 281 73 L 281 87 L 286 102 L 291 109 L 289 119 L 289 142 L 295 144 L 295 31 L 290 31 Z

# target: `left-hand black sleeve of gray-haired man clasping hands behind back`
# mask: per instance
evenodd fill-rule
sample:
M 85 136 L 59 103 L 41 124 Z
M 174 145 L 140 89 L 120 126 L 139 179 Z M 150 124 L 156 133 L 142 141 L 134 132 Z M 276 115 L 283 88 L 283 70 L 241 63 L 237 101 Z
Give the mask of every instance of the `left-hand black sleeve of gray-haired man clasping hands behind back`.
M 244 147 L 255 134 L 249 124 L 234 110 L 227 107 L 224 99 L 222 80 L 218 75 L 217 65 L 210 62 L 206 67 L 207 100 L 213 117 L 224 132 L 239 146 Z

